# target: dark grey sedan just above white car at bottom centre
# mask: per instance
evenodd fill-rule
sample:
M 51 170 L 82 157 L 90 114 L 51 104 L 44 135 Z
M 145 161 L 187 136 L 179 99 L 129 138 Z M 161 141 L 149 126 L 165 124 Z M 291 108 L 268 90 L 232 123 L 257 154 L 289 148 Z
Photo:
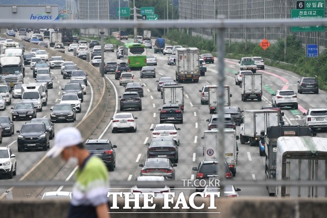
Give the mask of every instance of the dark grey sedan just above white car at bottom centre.
M 176 163 L 172 164 L 168 158 L 148 158 L 142 167 L 140 176 L 163 176 L 166 180 L 175 180 Z M 174 188 L 174 187 L 172 187 Z

